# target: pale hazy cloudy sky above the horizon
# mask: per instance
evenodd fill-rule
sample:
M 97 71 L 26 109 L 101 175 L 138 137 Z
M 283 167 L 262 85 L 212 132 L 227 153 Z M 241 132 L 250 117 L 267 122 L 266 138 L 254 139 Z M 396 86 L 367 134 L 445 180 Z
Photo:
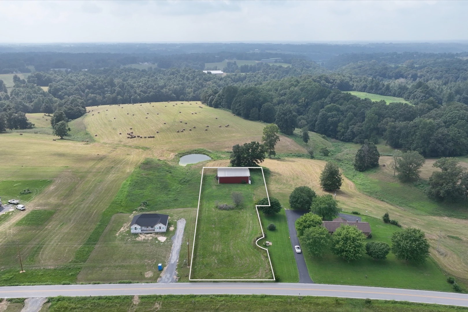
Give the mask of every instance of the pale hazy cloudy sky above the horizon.
M 468 1 L 0 1 L 0 43 L 468 40 Z

